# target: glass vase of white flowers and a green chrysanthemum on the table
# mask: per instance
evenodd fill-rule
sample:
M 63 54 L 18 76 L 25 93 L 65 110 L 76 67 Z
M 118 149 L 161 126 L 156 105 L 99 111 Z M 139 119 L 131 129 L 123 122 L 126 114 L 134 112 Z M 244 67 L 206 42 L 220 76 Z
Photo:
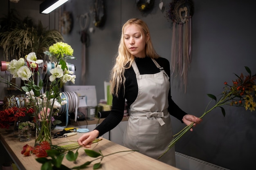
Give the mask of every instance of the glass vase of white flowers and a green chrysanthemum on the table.
M 19 60 L 11 60 L 7 66 L 7 71 L 13 75 L 13 78 L 20 77 L 21 80 L 27 81 L 22 86 L 22 91 L 27 94 L 27 103 L 34 109 L 35 125 L 36 125 L 36 140 L 35 146 L 43 141 L 48 141 L 51 144 L 51 119 L 53 111 L 61 108 L 67 101 L 61 99 L 60 88 L 66 82 L 75 83 L 76 75 L 70 71 L 66 64 L 66 59 L 74 59 L 73 49 L 70 45 L 64 42 L 57 42 L 49 47 L 49 51 L 44 53 L 49 56 L 49 59 L 54 62 L 55 68 L 49 72 L 49 87 L 48 80 L 46 83 L 47 90 L 43 91 L 44 82 L 40 79 L 39 69 L 43 69 L 43 60 L 37 60 L 36 53 L 31 52 L 20 58 Z M 25 61 L 26 60 L 26 61 Z M 6 82 L 11 86 L 18 88 L 10 82 Z M 55 112 L 56 113 L 56 112 Z

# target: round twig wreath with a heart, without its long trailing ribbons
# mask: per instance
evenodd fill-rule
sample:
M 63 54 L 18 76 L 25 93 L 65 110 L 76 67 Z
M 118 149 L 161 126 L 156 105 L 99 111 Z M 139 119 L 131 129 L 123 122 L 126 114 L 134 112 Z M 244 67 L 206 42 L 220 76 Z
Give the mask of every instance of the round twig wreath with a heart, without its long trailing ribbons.
M 184 23 L 194 14 L 194 4 L 192 0 L 173 0 L 166 11 L 167 19 L 176 23 Z

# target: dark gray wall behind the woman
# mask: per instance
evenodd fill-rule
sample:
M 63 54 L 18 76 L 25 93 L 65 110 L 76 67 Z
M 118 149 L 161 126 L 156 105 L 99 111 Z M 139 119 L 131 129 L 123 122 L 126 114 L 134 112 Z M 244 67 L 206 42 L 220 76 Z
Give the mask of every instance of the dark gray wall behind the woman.
M 171 2 L 162 1 L 164 6 Z M 160 11 L 159 2 L 155 0 L 155 8 L 145 14 L 138 11 L 135 0 L 106 0 L 106 24 L 89 33 L 87 74 L 84 77 L 85 85 L 96 86 L 98 101 L 104 98 L 103 81 L 108 80 L 112 60 L 117 53 L 121 26 L 126 20 L 136 17 L 146 21 L 156 51 L 171 60 L 171 23 L 166 20 L 165 11 Z M 171 88 L 173 100 L 180 108 L 200 117 L 210 101 L 207 93 L 220 94 L 225 81 L 231 83 L 236 79 L 233 73 L 246 73 L 244 66 L 249 66 L 252 73 L 256 73 L 256 1 L 193 2 L 192 62 L 187 92 L 182 93 L 175 83 Z M 62 7 L 63 10 L 72 11 L 74 16 L 73 30 L 64 38 L 74 48 L 74 56 L 77 57 L 77 60 L 71 61 L 76 66 L 76 85 L 81 85 L 82 53 L 77 16 L 90 13 L 91 6 L 92 0 L 70 0 Z M 93 26 L 92 22 L 90 26 Z M 206 115 L 202 124 L 178 141 L 176 151 L 231 170 L 253 169 L 256 160 L 256 113 L 230 106 L 225 109 L 225 117 L 219 108 Z M 184 127 L 175 118 L 172 122 L 175 133 Z

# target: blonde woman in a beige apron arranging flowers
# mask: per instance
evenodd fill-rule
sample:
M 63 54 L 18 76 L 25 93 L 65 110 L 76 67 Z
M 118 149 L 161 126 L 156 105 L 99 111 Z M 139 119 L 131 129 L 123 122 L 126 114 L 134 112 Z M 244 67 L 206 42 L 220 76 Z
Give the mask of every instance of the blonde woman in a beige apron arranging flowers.
M 80 137 L 79 145 L 89 148 L 95 138 L 115 128 L 124 116 L 127 99 L 130 118 L 123 144 L 157 159 L 172 140 L 170 114 L 186 125 L 202 121 L 173 102 L 169 77 L 170 64 L 155 52 L 146 23 L 136 18 L 128 20 L 122 28 L 111 73 L 111 113 L 92 132 Z M 175 166 L 174 148 L 159 160 Z

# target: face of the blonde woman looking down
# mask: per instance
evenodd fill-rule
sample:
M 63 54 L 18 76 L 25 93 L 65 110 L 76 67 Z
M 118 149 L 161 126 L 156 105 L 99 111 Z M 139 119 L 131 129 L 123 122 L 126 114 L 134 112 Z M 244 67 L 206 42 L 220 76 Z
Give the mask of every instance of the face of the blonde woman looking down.
M 145 35 L 138 29 L 135 24 L 130 24 L 124 29 L 124 43 L 126 49 L 135 57 L 144 58 L 146 57 L 146 42 L 149 36 Z

